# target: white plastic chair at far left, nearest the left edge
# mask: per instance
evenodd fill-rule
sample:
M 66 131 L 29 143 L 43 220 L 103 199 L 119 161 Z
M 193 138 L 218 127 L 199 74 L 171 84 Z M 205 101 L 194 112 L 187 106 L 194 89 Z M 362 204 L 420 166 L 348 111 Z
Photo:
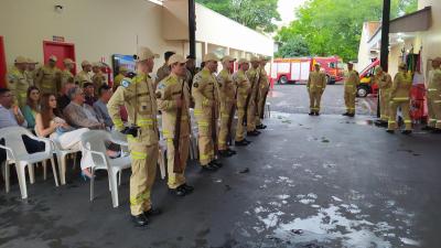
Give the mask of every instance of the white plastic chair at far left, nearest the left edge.
M 44 142 L 45 150 L 42 152 L 28 153 L 24 145 L 22 136 L 28 136 L 29 138 Z M 28 198 L 26 188 L 26 175 L 25 168 L 29 169 L 31 184 L 34 183 L 34 168 L 33 164 L 37 162 L 44 162 L 51 160 L 52 172 L 54 173 L 55 185 L 58 186 L 58 177 L 56 175 L 55 162 L 53 158 L 53 150 L 51 141 L 49 139 L 37 138 L 32 134 L 28 129 L 22 127 L 8 127 L 0 129 L 0 139 L 4 139 L 4 145 L 0 145 L 1 149 L 7 151 L 7 161 L 4 164 L 4 179 L 6 188 L 9 192 L 10 187 L 10 164 L 15 164 L 17 175 L 19 177 L 19 185 L 22 198 Z

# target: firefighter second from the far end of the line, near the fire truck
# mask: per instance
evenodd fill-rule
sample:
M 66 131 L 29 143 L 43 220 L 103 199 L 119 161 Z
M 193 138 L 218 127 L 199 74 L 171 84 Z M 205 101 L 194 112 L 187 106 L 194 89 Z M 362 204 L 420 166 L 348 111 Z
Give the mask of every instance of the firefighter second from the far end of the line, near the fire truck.
M 247 106 L 247 136 L 258 136 L 260 132 L 256 129 L 256 112 L 259 94 L 259 57 L 251 56 L 251 68 L 247 71 L 247 77 L 251 84 L 250 98 Z

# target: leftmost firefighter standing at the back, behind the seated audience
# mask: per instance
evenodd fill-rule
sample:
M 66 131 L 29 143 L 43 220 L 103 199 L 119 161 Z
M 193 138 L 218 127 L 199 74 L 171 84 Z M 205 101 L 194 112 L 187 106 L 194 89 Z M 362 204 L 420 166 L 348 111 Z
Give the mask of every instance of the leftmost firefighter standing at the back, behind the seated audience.
M 26 80 L 25 69 L 28 60 L 23 56 L 18 56 L 14 61 L 14 66 L 7 75 L 8 88 L 15 95 L 17 104 L 20 108 L 26 105 L 26 93 L 29 82 Z

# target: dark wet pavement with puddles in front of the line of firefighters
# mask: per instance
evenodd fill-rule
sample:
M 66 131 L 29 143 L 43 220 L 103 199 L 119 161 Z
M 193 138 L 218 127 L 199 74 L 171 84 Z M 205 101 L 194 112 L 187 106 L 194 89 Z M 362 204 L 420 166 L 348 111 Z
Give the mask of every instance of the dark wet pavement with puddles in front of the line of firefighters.
M 192 195 L 173 197 L 158 179 L 163 214 L 148 228 L 129 222 L 129 172 L 112 208 L 106 175 L 90 203 L 78 169 L 58 188 L 37 170 L 29 201 L 17 182 L 0 188 L 0 247 L 441 247 L 441 136 L 389 134 L 369 116 L 273 111 L 266 123 L 218 172 L 192 162 Z

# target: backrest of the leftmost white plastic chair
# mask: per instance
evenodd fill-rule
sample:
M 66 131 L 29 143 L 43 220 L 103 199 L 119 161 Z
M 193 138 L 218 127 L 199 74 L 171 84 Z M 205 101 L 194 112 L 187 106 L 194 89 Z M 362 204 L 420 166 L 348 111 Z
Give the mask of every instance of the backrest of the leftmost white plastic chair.
M 0 140 L 4 140 L 4 145 L 11 148 L 18 157 L 29 155 L 22 136 L 28 136 L 30 138 L 34 137 L 32 132 L 23 127 L 8 127 L 0 129 Z M 7 158 L 11 158 L 9 151 L 7 151 Z

